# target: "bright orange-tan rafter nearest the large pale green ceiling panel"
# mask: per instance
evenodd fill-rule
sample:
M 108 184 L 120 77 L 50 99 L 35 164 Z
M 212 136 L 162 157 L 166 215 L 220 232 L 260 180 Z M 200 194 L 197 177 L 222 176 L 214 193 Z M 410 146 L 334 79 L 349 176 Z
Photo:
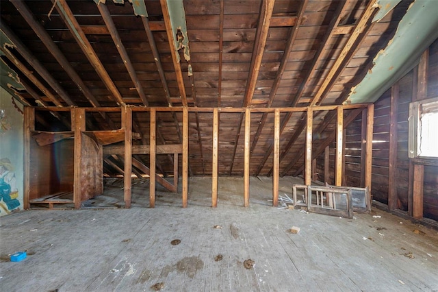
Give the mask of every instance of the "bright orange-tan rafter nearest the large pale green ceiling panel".
M 374 15 L 374 10 L 376 10 L 376 0 L 371 0 L 368 2 L 367 7 L 365 10 L 363 10 L 363 13 L 357 21 L 355 25 L 355 29 L 353 29 L 352 34 L 350 34 L 350 37 L 348 38 L 346 44 L 342 48 L 341 53 L 339 53 L 339 56 L 336 58 L 335 63 L 331 67 L 329 73 L 324 78 L 324 81 L 322 82 L 320 88 L 318 88 L 318 92 L 313 97 L 313 100 L 311 102 L 311 106 L 315 106 L 316 104 L 319 104 L 322 95 L 325 92 L 326 88 L 329 87 L 329 84 L 331 84 L 333 78 L 335 77 L 335 74 L 337 73 L 337 70 L 341 67 L 344 60 L 347 58 L 348 53 L 354 49 L 354 44 L 356 40 L 361 36 L 362 33 L 364 33 L 365 27 L 367 27 L 368 21 L 372 18 Z

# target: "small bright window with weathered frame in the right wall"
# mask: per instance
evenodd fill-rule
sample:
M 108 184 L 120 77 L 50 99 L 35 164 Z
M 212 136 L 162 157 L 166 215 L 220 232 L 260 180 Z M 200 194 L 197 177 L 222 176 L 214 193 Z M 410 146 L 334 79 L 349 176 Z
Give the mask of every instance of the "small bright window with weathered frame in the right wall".
M 409 105 L 409 158 L 438 158 L 438 98 Z

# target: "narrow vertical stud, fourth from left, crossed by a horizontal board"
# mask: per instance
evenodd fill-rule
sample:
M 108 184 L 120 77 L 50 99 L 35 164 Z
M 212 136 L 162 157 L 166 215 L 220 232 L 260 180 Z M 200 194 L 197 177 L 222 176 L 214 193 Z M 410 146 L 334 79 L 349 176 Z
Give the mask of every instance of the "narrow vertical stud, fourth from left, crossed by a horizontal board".
M 157 158 L 157 111 L 155 108 L 151 108 L 149 124 L 149 207 L 155 208 L 155 162 Z

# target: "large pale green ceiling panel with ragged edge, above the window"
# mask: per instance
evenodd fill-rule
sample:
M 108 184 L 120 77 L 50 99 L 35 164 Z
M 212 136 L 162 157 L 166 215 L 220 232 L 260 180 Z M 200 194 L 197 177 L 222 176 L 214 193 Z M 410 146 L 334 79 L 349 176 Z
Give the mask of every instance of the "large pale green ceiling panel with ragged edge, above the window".
M 373 60 L 363 80 L 351 88 L 346 103 L 376 101 L 392 84 L 411 71 L 422 53 L 438 38 L 438 1 L 416 0 L 398 25 L 387 47 Z

